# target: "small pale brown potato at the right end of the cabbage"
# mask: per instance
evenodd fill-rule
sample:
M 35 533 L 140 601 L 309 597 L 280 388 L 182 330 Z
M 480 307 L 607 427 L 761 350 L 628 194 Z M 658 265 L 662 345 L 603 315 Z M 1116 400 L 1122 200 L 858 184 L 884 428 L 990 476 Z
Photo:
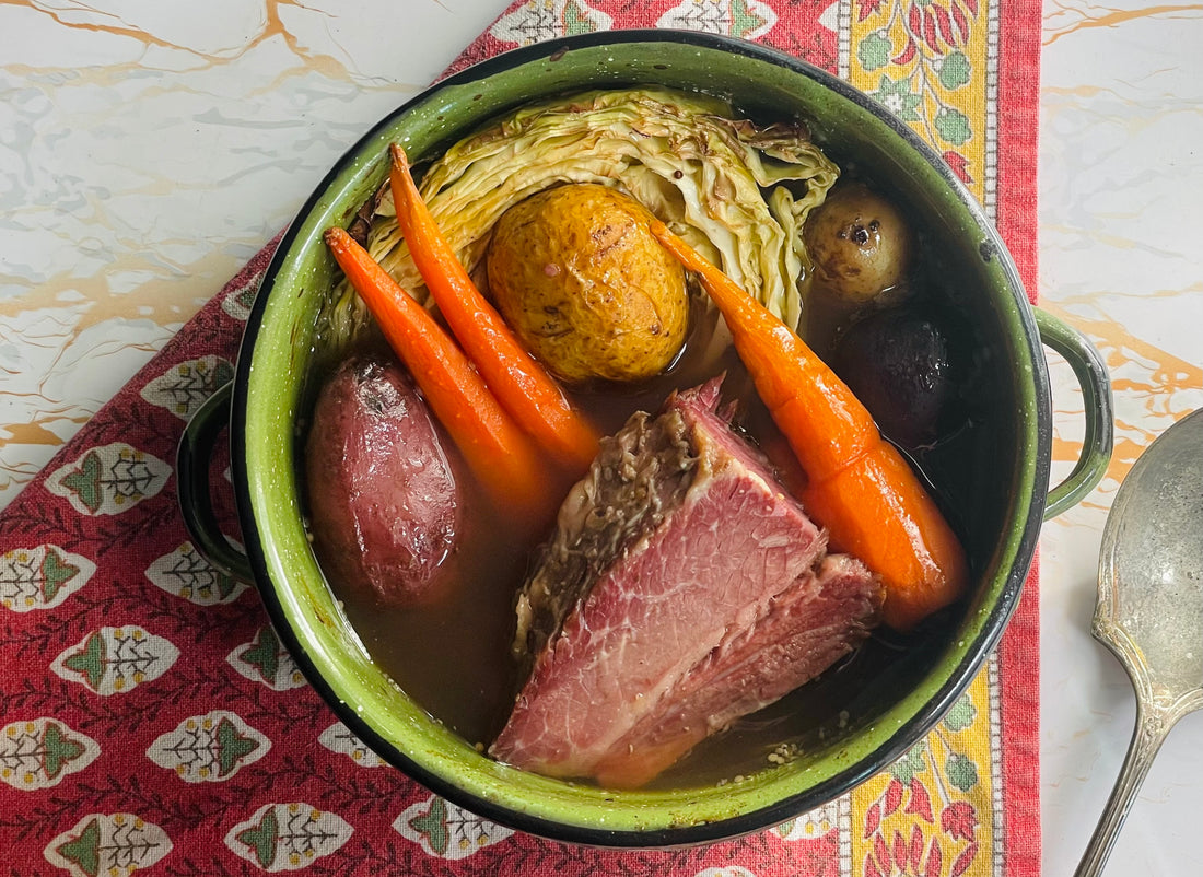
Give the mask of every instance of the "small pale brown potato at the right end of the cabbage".
M 851 304 L 893 300 L 911 259 L 911 231 L 863 183 L 836 186 L 802 231 L 816 279 Z

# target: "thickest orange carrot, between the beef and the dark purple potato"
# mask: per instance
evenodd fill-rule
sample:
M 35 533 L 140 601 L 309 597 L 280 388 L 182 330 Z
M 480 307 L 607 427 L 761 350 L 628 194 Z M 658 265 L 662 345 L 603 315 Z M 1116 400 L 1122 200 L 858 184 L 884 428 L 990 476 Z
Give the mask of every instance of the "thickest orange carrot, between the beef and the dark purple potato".
M 965 591 L 965 551 L 872 415 L 798 334 L 663 223 L 652 233 L 695 272 L 757 392 L 807 475 L 802 503 L 832 544 L 885 587 L 887 624 L 909 630 Z

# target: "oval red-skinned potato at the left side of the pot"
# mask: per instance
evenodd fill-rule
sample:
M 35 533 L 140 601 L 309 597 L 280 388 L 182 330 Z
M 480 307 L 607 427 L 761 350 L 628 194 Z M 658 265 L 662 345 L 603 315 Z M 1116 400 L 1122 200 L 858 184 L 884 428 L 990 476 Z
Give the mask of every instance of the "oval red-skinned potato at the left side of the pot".
M 314 408 L 306 475 L 314 549 L 332 580 L 381 605 L 438 599 L 463 503 L 401 363 L 352 358 L 333 374 Z

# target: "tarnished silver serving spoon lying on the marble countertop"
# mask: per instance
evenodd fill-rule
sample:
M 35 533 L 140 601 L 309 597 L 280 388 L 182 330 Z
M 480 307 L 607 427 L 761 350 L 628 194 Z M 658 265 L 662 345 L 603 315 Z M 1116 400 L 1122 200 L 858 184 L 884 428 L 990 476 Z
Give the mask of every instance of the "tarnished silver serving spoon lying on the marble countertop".
M 1127 670 L 1137 718 L 1077 877 L 1102 872 L 1169 729 L 1203 706 L 1203 409 L 1162 433 L 1115 494 L 1094 634 Z

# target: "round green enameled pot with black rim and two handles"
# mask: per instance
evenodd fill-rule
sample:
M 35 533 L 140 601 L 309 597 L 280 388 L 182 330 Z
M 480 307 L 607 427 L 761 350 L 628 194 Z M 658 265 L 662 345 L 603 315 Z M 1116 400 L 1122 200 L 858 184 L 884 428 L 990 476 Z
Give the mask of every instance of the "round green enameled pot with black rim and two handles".
M 367 656 L 319 569 L 302 522 L 298 423 L 312 403 L 331 303 L 333 261 L 321 241 L 381 185 L 387 146 L 415 161 L 521 103 L 598 87 L 660 84 L 729 97 L 763 119 L 805 120 L 841 166 L 871 170 L 907 205 L 958 278 L 955 308 L 985 377 L 986 411 L 971 466 L 947 499 L 974 570 L 968 599 L 885 677 L 849 700 L 841 734 L 783 765 L 725 784 L 617 792 L 498 764 L 434 721 Z M 1042 342 L 1074 367 L 1086 401 L 1083 458 L 1049 493 L 1051 408 Z M 207 458 L 229 423 L 245 555 L 220 535 Z M 330 172 L 289 229 L 255 301 L 232 386 L 192 421 L 180 446 L 182 505 L 196 544 L 253 579 L 280 638 L 339 718 L 396 768 L 498 823 L 583 843 L 656 847 L 772 826 L 889 766 L 965 691 L 1015 609 L 1042 517 L 1089 492 L 1110 455 L 1110 391 L 1097 354 L 1033 312 L 997 232 L 940 158 L 864 94 L 794 58 L 751 43 L 672 31 L 615 31 L 493 58 L 405 103 Z

